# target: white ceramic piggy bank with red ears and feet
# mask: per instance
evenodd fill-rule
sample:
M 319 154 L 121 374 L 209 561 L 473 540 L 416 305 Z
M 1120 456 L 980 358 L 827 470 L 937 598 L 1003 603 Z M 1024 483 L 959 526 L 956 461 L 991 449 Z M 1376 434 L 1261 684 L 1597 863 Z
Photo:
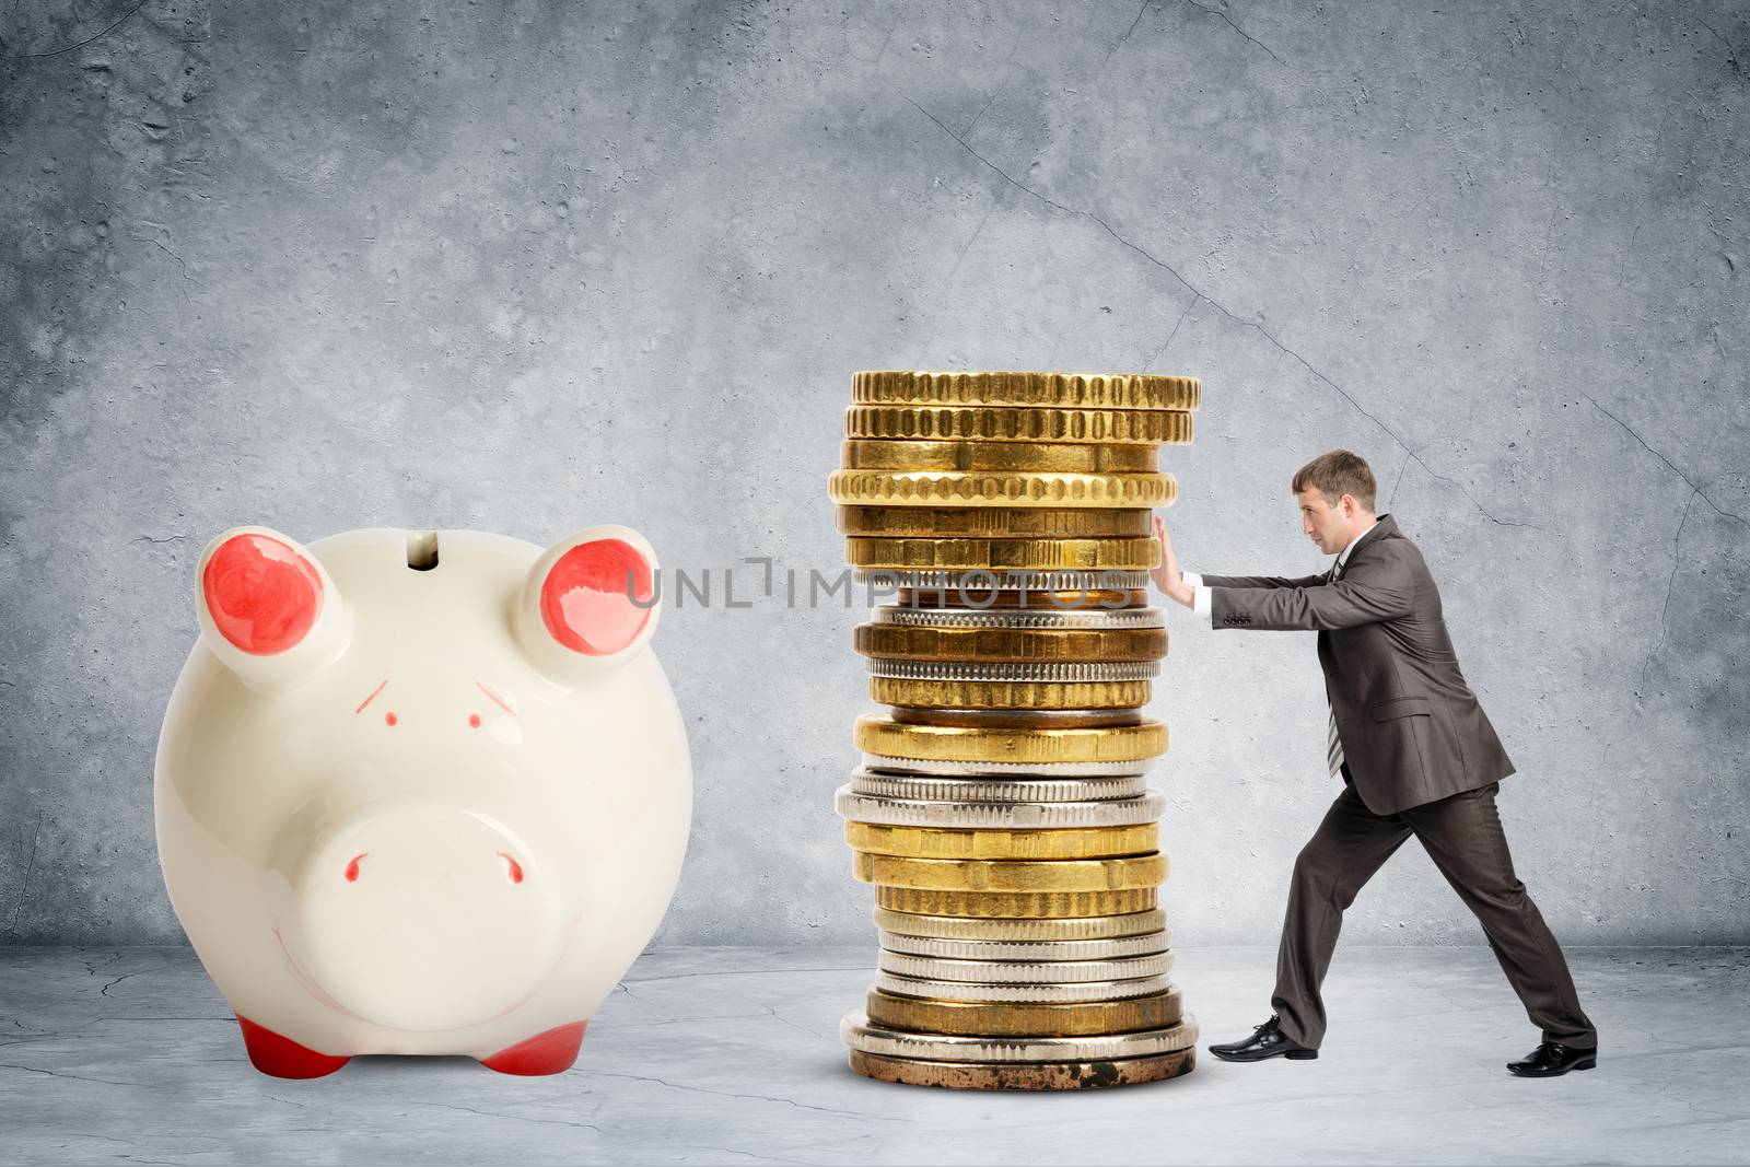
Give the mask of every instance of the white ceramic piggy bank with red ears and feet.
M 158 854 L 256 1069 L 572 1066 L 686 852 L 656 570 L 626 527 L 206 544 Z

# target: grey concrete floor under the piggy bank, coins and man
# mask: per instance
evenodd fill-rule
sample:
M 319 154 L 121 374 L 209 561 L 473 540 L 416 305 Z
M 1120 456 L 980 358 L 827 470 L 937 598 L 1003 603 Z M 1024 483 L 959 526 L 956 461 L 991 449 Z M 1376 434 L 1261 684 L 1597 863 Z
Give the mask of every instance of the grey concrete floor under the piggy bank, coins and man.
M 1592 1073 L 1536 1045 L 1486 948 L 1339 948 L 1316 1062 L 1088 1094 L 957 1094 L 845 1069 L 873 945 L 646 954 L 578 1067 L 355 1059 L 250 1069 L 186 948 L 0 950 L 0 1162 L 1750 1162 L 1750 948 L 1575 948 Z M 1269 1011 L 1267 948 L 1188 948 L 1204 1039 Z

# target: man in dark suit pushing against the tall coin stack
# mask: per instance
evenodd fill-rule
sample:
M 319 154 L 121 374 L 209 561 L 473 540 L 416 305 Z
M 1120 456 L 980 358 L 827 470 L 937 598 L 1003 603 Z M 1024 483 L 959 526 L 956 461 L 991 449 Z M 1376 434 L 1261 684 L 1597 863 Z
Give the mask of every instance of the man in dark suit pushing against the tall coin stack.
M 1302 579 L 1181 572 L 1155 518 L 1155 583 L 1213 628 L 1318 630 L 1330 719 L 1325 756 L 1342 793 L 1295 859 L 1276 955 L 1270 1020 L 1250 1038 L 1209 1046 L 1230 1062 L 1316 1059 L 1325 1039 L 1320 985 L 1342 912 L 1412 835 L 1482 924 L 1502 971 L 1544 1031 L 1507 1069 L 1552 1078 L 1598 1064 L 1598 1031 L 1561 947 L 1514 875 L 1494 793 L 1514 765 L 1458 668 L 1440 593 L 1421 551 L 1391 514 L 1374 514 L 1374 472 L 1348 451 L 1325 453 L 1290 486 L 1300 528 L 1332 570 Z

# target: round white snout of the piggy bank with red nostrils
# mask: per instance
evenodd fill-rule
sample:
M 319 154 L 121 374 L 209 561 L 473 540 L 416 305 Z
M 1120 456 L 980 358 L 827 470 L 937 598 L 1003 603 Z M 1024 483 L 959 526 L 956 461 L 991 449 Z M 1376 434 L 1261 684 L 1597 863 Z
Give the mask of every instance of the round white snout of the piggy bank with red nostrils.
M 539 859 L 504 826 L 450 807 L 378 807 L 338 824 L 292 891 L 280 940 L 298 973 L 392 1029 L 462 1029 L 516 1008 L 564 934 Z

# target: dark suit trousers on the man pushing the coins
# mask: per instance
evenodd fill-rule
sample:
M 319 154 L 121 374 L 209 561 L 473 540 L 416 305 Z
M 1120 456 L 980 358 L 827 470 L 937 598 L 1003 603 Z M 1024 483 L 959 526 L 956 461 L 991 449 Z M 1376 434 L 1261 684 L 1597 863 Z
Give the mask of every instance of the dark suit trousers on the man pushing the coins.
M 1337 948 L 1342 913 L 1391 852 L 1414 835 L 1482 924 L 1494 959 L 1544 1039 L 1575 1050 L 1594 1048 L 1598 1031 L 1580 1010 L 1561 947 L 1514 875 L 1494 810 L 1500 784 L 1376 815 L 1354 793 L 1348 763 L 1342 777 L 1342 793 L 1295 859 L 1288 889 L 1270 997 L 1283 1032 L 1314 1050 L 1325 1039 L 1320 985 Z

